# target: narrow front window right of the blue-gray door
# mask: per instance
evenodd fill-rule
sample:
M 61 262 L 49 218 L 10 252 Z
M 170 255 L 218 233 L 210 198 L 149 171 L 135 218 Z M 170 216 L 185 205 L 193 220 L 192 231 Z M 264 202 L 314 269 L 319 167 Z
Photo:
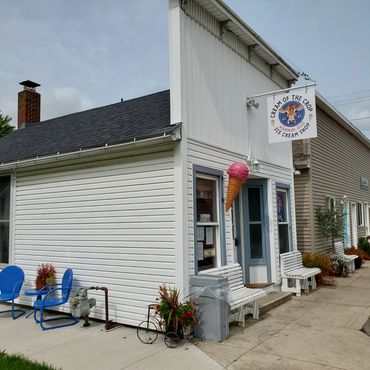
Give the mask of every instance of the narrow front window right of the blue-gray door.
M 280 253 L 286 253 L 290 250 L 290 231 L 289 231 L 289 202 L 288 189 L 276 189 L 276 211 L 279 228 L 279 248 Z

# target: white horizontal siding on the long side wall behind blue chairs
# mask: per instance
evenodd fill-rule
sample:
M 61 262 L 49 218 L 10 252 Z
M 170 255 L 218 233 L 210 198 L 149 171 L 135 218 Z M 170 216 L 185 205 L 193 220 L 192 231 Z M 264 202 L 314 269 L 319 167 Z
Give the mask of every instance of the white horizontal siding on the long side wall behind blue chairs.
M 14 263 L 31 288 L 37 266 L 74 270 L 74 288 L 109 289 L 110 318 L 137 325 L 162 283 L 174 283 L 173 152 L 99 167 L 17 175 Z M 104 295 L 95 317 L 104 319 Z M 27 298 L 23 303 L 30 304 Z

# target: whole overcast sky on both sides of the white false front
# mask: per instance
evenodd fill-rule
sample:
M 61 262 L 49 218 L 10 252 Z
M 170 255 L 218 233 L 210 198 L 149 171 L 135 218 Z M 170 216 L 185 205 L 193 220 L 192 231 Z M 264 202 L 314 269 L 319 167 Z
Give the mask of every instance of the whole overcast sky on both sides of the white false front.
M 370 138 L 369 0 L 226 0 Z M 0 110 L 42 86 L 42 119 L 167 89 L 167 0 L 0 0 Z

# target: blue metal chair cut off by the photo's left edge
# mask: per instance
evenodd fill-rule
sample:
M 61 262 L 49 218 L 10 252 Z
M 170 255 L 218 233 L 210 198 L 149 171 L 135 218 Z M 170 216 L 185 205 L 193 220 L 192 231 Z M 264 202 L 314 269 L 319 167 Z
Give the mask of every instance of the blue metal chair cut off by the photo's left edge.
M 24 310 L 14 309 L 14 300 L 19 297 L 23 283 L 24 272 L 20 267 L 7 266 L 0 271 L 0 302 L 12 301 L 12 309 L 0 313 L 11 312 L 13 320 L 26 313 Z M 15 316 L 15 312 L 19 312 L 19 315 Z

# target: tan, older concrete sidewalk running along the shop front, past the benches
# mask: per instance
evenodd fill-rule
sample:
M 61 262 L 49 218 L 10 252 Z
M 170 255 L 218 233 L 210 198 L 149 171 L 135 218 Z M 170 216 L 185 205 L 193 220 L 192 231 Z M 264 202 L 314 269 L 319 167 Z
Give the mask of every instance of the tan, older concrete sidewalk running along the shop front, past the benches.
M 226 369 L 370 369 L 370 264 L 198 347 Z

